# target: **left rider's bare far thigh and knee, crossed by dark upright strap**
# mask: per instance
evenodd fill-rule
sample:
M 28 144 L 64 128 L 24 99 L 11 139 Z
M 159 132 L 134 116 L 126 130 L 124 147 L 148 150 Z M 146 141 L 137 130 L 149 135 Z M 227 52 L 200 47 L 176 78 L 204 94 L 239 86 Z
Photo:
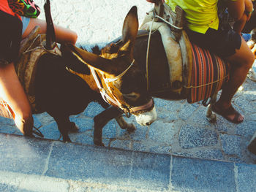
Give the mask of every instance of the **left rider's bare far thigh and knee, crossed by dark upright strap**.
M 41 31 L 40 34 L 46 33 L 46 21 L 40 20 L 38 18 L 30 18 L 29 25 L 24 31 L 22 38 L 25 38 L 29 35 L 29 33 L 33 30 L 35 26 L 39 26 Z M 78 34 L 75 31 L 70 30 L 69 28 L 64 28 L 54 24 L 55 34 L 56 34 L 56 41 L 61 42 L 70 42 L 75 45 L 75 42 L 78 39 Z

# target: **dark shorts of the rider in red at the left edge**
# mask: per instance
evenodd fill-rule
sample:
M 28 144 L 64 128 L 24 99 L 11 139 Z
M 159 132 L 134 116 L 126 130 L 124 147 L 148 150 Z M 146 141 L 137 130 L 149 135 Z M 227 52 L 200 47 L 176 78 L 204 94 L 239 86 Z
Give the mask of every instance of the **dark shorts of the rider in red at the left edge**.
M 0 10 L 0 61 L 1 64 L 15 61 L 20 49 L 22 22 Z

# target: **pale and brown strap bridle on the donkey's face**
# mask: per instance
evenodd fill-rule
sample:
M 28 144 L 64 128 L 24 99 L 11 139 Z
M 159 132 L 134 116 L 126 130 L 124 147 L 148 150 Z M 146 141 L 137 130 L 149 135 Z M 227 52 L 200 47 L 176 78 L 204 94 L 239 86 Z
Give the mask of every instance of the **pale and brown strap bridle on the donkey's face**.
M 105 88 L 103 88 L 102 83 L 100 82 L 99 77 L 96 74 L 94 68 L 89 66 L 89 68 L 91 69 L 91 74 L 94 77 L 97 87 L 99 88 L 99 93 L 102 95 L 102 98 L 104 99 L 104 101 L 106 101 L 107 103 L 109 103 L 108 101 L 111 101 L 113 104 L 118 106 L 122 111 L 124 111 L 125 115 L 127 115 L 128 118 L 130 117 L 131 113 L 140 112 L 142 110 L 147 110 L 149 107 L 152 107 L 154 105 L 154 101 L 153 101 L 153 99 L 151 99 L 150 101 L 148 101 L 148 103 L 143 104 L 141 106 L 127 107 L 118 101 L 116 96 L 114 96 L 113 92 L 111 91 L 110 86 L 108 85 L 108 82 L 114 82 L 114 81 L 120 79 L 121 77 L 123 77 L 124 74 L 126 74 L 128 72 L 128 70 L 133 66 L 134 62 L 135 62 L 135 59 L 132 60 L 132 63 L 128 66 L 127 69 L 124 70 L 124 72 L 121 72 L 121 74 L 118 74 L 118 76 L 116 76 L 114 78 L 105 78 L 103 75 L 104 73 L 101 72 L 102 80 L 105 82 L 105 85 L 108 88 L 108 91 L 106 91 Z M 110 93 L 110 95 L 107 92 Z

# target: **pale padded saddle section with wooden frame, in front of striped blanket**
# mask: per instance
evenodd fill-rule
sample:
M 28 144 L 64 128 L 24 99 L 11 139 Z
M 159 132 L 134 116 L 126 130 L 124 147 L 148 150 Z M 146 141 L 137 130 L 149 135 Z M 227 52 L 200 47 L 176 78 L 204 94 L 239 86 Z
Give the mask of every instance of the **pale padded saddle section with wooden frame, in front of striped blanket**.
M 155 18 L 156 15 L 173 23 L 177 28 Z M 140 26 L 142 30 L 157 30 L 161 34 L 170 69 L 170 90 L 180 94 L 188 93 L 186 87 L 190 86 L 192 74 L 192 49 L 186 32 L 182 30 L 184 22 L 184 11 L 180 7 L 176 7 L 175 13 L 167 4 L 155 4 Z

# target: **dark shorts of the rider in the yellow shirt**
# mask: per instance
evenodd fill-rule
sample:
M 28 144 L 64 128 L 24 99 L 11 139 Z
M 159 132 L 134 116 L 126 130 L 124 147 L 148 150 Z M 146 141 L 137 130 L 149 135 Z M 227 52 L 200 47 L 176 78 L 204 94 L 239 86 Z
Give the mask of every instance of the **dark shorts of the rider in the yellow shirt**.
M 203 47 L 222 58 L 227 58 L 236 53 L 241 47 L 241 36 L 231 28 L 215 30 L 208 28 L 206 34 L 187 30 L 189 40 L 199 47 Z

